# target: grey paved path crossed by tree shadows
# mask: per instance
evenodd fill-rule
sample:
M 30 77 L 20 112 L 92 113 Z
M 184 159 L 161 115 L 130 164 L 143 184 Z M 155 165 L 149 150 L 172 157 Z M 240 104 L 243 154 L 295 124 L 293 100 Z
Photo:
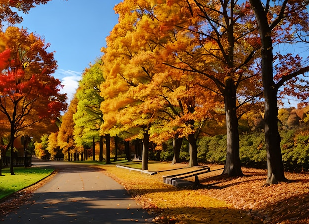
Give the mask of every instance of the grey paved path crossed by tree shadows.
M 33 205 L 21 206 L 1 224 L 153 224 L 126 190 L 91 166 L 43 162 L 59 172 L 39 188 Z

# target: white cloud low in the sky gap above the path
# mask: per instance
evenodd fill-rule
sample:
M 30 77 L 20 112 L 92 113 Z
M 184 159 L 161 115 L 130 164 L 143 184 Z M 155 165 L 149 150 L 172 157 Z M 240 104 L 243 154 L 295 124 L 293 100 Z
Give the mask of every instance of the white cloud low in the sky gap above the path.
M 59 79 L 64 86 L 60 92 L 67 94 L 69 104 L 78 88 L 81 72 L 60 69 L 55 72 L 54 77 Z

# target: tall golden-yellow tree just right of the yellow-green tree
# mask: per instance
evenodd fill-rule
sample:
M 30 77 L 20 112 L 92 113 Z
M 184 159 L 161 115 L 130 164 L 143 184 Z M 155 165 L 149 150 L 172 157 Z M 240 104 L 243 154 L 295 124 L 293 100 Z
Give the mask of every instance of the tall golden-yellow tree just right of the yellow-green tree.
M 147 169 L 148 130 L 153 112 L 148 110 L 149 108 L 141 100 L 145 95 L 140 98 L 134 95 L 133 87 L 137 87 L 139 83 L 132 77 L 134 72 L 127 67 L 130 65 L 133 53 L 127 47 L 130 31 L 134 29 L 132 27 L 134 19 L 136 17 L 120 13 L 119 23 L 107 37 L 107 48 L 103 49 L 105 82 L 101 86 L 101 96 L 105 100 L 101 104 L 104 119 L 101 132 L 111 136 L 118 135 L 126 141 L 135 138 L 143 139 L 142 169 Z M 145 72 L 143 75 L 147 76 Z M 140 87 L 142 88 L 142 84 Z M 146 113 L 145 110 L 150 112 Z

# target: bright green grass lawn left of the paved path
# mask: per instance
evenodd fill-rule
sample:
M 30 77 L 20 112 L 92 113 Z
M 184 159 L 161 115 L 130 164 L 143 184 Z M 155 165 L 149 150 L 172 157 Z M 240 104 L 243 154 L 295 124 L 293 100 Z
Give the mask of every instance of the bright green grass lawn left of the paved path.
M 53 169 L 40 167 L 15 167 L 15 175 L 11 175 L 9 168 L 3 169 L 3 176 L 0 176 L 0 200 L 14 192 L 37 183 L 43 178 L 49 176 L 52 172 Z

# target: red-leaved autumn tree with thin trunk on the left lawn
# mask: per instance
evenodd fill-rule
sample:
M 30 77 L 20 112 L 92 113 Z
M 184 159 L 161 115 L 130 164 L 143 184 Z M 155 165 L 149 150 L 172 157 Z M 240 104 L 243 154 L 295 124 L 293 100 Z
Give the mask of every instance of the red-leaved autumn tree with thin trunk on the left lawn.
M 1 33 L 6 50 L 1 60 L 0 112 L 10 124 L 11 174 L 13 171 L 13 142 L 22 130 L 48 120 L 55 122 L 66 109 L 66 94 L 60 94 L 61 83 L 51 74 L 57 64 L 49 44 L 25 29 L 8 27 Z M 8 56 L 8 57 L 7 57 Z M 4 63 L 3 63 L 4 62 Z

